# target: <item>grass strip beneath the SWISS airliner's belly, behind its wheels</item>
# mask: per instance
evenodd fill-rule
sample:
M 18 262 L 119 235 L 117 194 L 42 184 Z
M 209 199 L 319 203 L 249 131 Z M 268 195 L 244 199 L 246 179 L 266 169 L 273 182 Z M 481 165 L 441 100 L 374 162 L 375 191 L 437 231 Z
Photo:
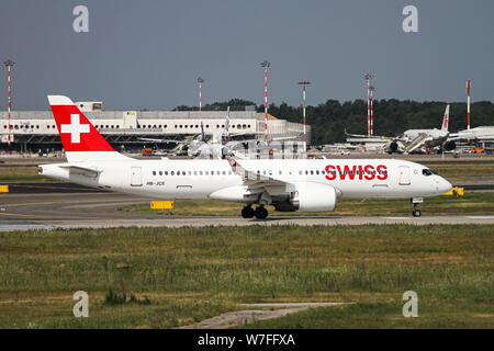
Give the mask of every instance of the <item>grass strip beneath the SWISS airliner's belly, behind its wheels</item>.
M 125 212 L 159 213 L 164 216 L 238 216 L 243 205 L 222 201 L 176 202 L 173 210 L 150 210 L 149 204 L 123 206 Z M 413 205 L 409 200 L 339 200 L 335 212 L 301 213 L 276 212 L 267 206 L 270 215 L 283 216 L 411 216 Z M 437 196 L 425 199 L 419 205 L 423 215 L 485 215 L 494 214 L 494 192 L 467 192 L 464 196 Z

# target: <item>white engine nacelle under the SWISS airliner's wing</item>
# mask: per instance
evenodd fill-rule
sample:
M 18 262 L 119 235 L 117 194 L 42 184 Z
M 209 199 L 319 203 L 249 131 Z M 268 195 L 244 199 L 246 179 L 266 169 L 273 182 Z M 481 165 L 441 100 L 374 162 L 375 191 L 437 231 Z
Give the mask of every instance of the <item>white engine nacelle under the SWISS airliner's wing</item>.
M 301 212 L 335 211 L 336 189 L 332 185 L 318 183 L 295 183 L 290 204 Z

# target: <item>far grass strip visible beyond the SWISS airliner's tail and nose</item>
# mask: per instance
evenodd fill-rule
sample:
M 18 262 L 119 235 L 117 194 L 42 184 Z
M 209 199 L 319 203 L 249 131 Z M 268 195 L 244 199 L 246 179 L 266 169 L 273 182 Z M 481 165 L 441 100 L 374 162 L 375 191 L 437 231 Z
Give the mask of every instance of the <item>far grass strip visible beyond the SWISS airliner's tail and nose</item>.
M 448 179 L 463 179 L 472 177 L 494 177 L 494 162 L 435 162 L 424 163 Z M 0 167 L 0 182 L 46 182 L 54 179 L 38 176 L 37 167 Z

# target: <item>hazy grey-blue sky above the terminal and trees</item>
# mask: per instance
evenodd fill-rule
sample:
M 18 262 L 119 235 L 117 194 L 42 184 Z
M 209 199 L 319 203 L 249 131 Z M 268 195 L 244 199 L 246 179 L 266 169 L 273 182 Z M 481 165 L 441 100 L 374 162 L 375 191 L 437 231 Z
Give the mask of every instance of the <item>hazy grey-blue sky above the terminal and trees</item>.
M 103 100 L 105 110 L 172 109 L 243 98 L 307 104 L 378 99 L 494 100 L 492 0 L 0 0 L 0 60 L 11 58 L 19 110 L 47 110 L 47 94 Z M 72 10 L 89 9 L 89 32 L 76 33 Z M 418 33 L 405 33 L 405 5 L 418 10 Z M 7 106 L 7 69 L 0 105 Z M 3 97 L 3 98 L 2 98 Z

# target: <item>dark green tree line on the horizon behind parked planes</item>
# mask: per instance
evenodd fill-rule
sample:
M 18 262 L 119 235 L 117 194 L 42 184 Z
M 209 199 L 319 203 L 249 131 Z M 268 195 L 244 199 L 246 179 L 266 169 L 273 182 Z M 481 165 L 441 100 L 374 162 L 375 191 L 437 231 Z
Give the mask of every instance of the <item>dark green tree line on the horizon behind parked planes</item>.
M 447 102 L 412 100 L 373 101 L 374 135 L 396 136 L 412 128 L 440 128 Z M 467 128 L 467 103 L 450 104 L 449 132 Z M 205 104 L 203 111 L 245 111 L 245 106 L 255 105 L 257 112 L 263 112 L 265 105 L 242 99 Z M 178 106 L 176 111 L 197 111 L 195 106 Z M 271 103 L 269 114 L 289 122 L 302 123 L 302 106 L 291 106 L 285 102 Z M 345 141 L 345 131 L 351 134 L 367 134 L 367 101 L 358 99 L 340 103 L 327 100 L 325 103 L 306 106 L 306 123 L 312 128 L 313 145 Z M 471 127 L 494 126 L 494 103 L 480 101 L 471 104 Z

